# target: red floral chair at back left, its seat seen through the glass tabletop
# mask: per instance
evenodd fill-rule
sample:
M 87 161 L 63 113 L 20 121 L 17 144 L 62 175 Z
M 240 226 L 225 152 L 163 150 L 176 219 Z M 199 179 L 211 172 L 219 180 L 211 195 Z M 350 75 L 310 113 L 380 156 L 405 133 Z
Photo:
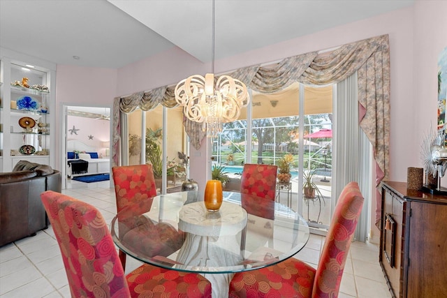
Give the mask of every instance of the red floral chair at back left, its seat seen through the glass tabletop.
M 117 213 L 124 208 L 138 209 L 140 202 L 145 202 L 150 209 L 153 198 L 156 196 L 156 186 L 152 165 L 123 165 L 112 167 L 115 184 L 115 197 L 117 200 Z M 120 220 L 120 218 L 118 218 Z M 124 227 L 126 227 L 124 229 Z M 125 225 L 119 229 L 121 236 L 127 242 L 133 242 L 145 250 L 145 255 L 167 256 L 177 251 L 184 242 L 184 233 L 177 231 L 169 223 L 154 223 L 145 216 L 126 218 Z M 126 235 L 124 235 L 126 234 Z M 168 239 L 166 245 L 160 244 L 154 237 Z M 137 245 L 135 245 L 137 246 Z M 126 253 L 119 250 L 119 260 L 126 269 Z

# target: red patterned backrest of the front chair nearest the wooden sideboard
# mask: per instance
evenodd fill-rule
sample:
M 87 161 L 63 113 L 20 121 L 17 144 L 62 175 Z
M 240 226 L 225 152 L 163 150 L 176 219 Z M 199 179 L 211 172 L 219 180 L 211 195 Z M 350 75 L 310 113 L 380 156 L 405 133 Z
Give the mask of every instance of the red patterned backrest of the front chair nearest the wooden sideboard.
M 363 201 L 357 182 L 347 184 L 339 195 L 316 269 L 312 297 L 337 297 Z

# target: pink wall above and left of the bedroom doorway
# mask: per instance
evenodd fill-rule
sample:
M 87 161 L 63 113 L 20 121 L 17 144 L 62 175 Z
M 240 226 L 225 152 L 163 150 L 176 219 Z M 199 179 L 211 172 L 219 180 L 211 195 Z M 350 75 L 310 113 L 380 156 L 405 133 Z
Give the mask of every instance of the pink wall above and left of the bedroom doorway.
M 57 66 L 56 75 L 56 123 L 60 126 L 56 128 L 57 156 L 56 167 L 61 169 L 62 152 L 61 127 L 62 105 L 87 105 L 112 108 L 113 98 L 117 93 L 117 73 L 116 69 L 109 68 L 85 68 L 77 66 Z M 111 110 L 112 111 L 112 110 Z M 109 121 L 107 121 L 109 123 Z M 72 128 L 72 127 L 68 127 Z M 68 133 L 68 132 L 67 132 Z M 67 135 L 70 138 L 70 133 Z

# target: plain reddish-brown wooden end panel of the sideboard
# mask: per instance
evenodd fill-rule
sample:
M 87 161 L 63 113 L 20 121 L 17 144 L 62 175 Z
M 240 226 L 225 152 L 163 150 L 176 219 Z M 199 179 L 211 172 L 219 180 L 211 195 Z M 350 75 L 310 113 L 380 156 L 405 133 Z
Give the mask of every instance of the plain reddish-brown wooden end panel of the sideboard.
M 447 297 L 447 206 L 410 204 L 406 297 Z

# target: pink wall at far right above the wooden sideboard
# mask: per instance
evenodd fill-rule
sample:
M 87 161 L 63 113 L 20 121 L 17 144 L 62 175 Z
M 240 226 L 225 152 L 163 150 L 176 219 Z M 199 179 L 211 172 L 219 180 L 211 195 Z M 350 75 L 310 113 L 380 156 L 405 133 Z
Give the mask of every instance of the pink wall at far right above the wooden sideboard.
M 430 131 L 430 125 L 436 128 L 438 58 L 447 47 L 447 1 L 416 1 L 413 16 L 413 107 L 405 121 L 408 126 L 401 124 L 396 135 L 396 142 L 402 144 L 400 147 L 409 148 L 406 159 L 402 160 L 402 163 L 406 161 L 405 166 L 411 166 L 408 161 L 419 161 L 418 165 L 421 166 L 421 140 Z M 442 179 L 441 186 L 447 187 L 447 175 Z

